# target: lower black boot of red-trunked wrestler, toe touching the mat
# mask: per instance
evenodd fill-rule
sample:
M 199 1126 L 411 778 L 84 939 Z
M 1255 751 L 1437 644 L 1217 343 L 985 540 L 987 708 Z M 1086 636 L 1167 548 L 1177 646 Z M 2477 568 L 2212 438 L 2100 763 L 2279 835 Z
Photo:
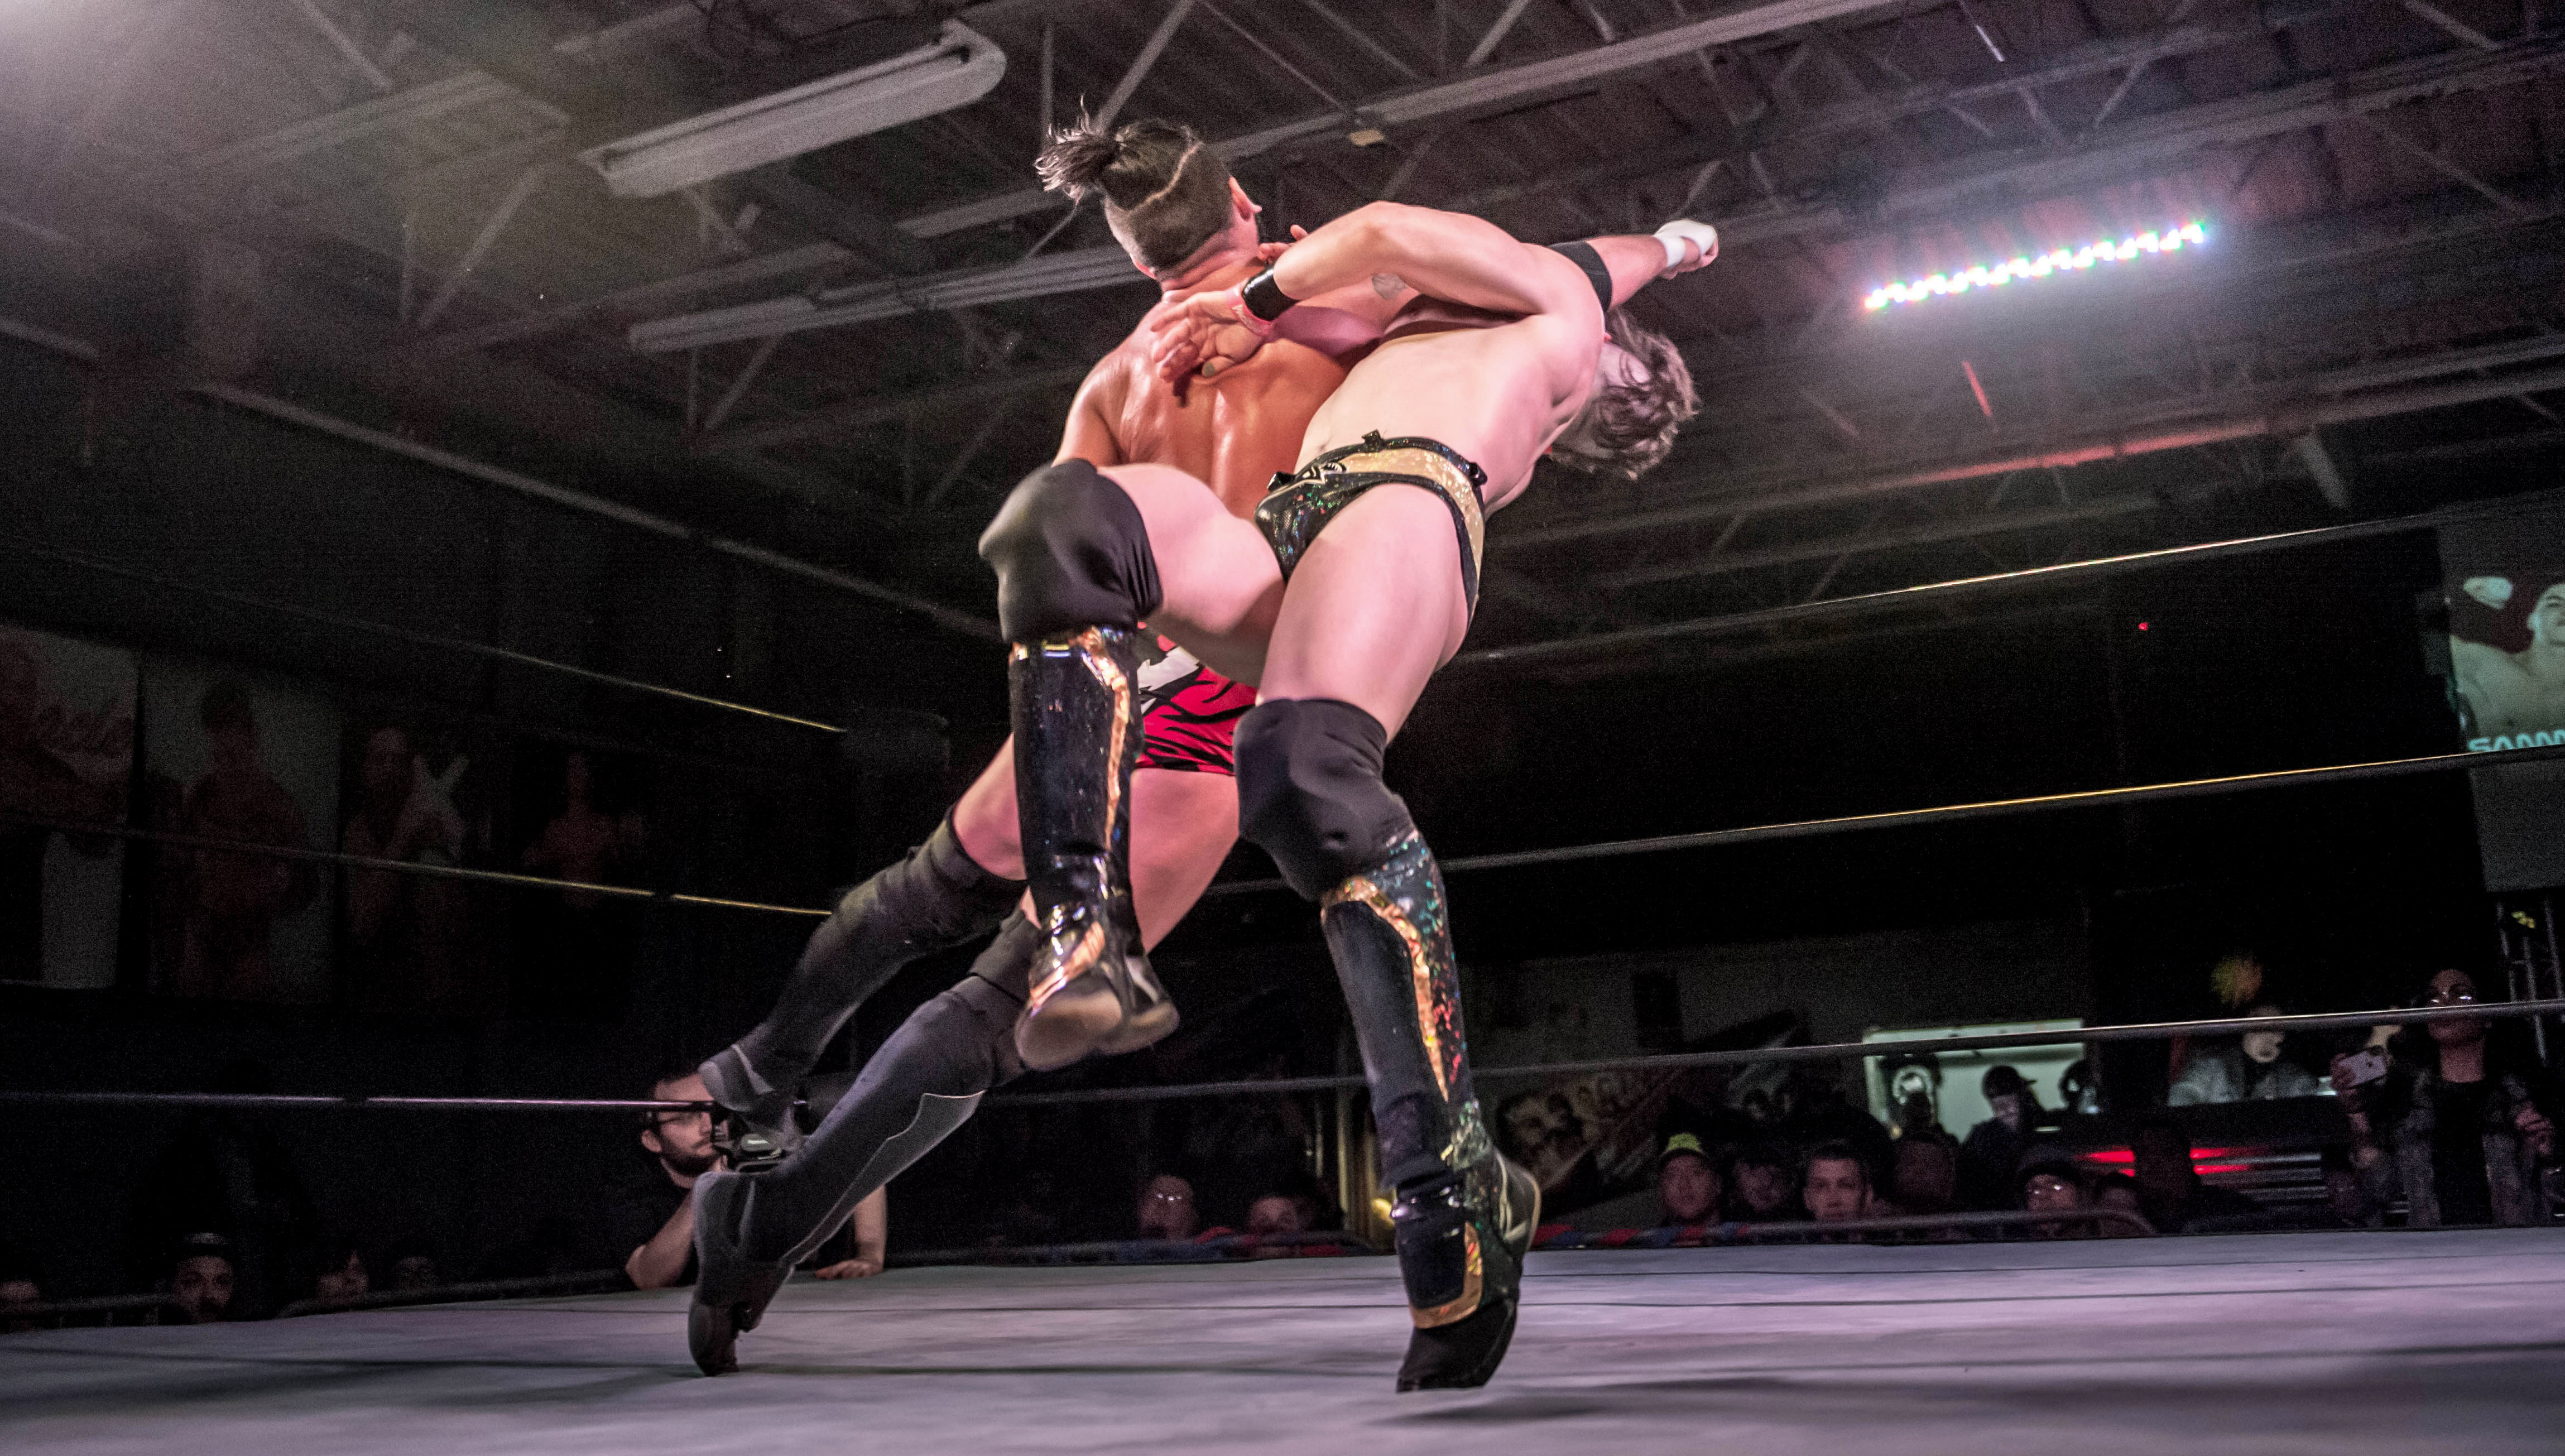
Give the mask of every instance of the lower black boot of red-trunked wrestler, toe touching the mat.
M 982 1092 L 1023 1074 L 1016 1015 L 1036 943 L 1023 915 L 1008 915 L 972 972 L 890 1033 L 793 1156 L 695 1179 L 687 1346 L 703 1374 L 736 1369 L 739 1333 L 864 1195 L 967 1123 Z

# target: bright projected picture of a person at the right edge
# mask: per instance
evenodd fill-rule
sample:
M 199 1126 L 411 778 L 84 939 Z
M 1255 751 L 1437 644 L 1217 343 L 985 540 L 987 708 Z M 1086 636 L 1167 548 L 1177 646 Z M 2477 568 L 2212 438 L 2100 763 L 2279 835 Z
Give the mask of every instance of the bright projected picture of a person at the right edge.
M 2468 749 L 2565 743 L 2565 518 L 2450 528 L 2439 551 Z

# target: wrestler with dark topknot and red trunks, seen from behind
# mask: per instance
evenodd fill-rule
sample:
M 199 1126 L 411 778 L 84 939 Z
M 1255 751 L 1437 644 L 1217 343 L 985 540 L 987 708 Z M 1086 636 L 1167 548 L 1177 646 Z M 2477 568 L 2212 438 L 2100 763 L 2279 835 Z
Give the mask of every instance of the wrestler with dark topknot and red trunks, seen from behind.
M 1072 131 L 1044 151 L 1039 169 L 1047 185 L 1080 200 L 1103 197 L 1113 236 L 1167 295 L 1236 285 L 1262 261 L 1257 205 L 1218 151 L 1185 128 L 1139 120 L 1113 133 Z M 1290 469 L 1311 413 L 1344 379 L 1336 354 L 1367 346 L 1390 313 L 1365 279 L 1347 297 L 1321 302 L 1362 315 L 1318 308 L 1318 328 L 1182 400 L 1157 385 L 1154 333 L 1136 328 L 1080 387 L 1059 459 L 1088 469 L 1175 467 L 1193 479 L 1206 510 L 1244 518 L 1265 479 Z M 1082 874 L 1090 884 L 1113 856 L 1116 884 L 1129 884 L 1118 915 L 1136 910 L 1136 925 L 1154 943 L 1193 907 L 1236 841 L 1231 733 L 1254 692 L 1170 643 L 1152 638 L 1144 646 L 1149 651 L 1134 656 L 1126 679 L 1126 725 L 1139 725 L 1126 743 L 1136 761 L 1136 772 L 1123 766 L 1129 795 L 1108 820 L 1088 825 L 1085 841 L 1054 854 L 1062 874 Z M 790 1266 L 844 1223 L 857 1200 L 959 1128 L 980 1092 L 1023 1071 L 1016 1018 L 1044 933 L 1008 915 L 1023 895 L 1013 761 L 1000 749 L 923 846 L 854 887 L 813 931 L 767 1020 L 703 1064 L 716 1102 L 793 1148 L 775 1169 L 711 1174 L 698 1184 L 703 1277 L 690 1346 L 705 1374 L 734 1369 L 736 1333 L 757 1323 Z M 985 936 L 1000 920 L 972 972 L 918 1007 L 803 1141 L 795 1092 L 854 1007 L 908 961 Z M 1082 931 L 1057 928 L 1057 938 Z M 1059 1066 L 1090 1048 L 1129 1051 L 1175 1030 L 1175 1005 L 1154 979 L 1131 977 L 1118 989 L 1131 995 L 1106 1007 L 1116 1033 L 1106 1046 L 1090 1038 L 1049 1059 L 1036 1048 L 1029 1061 Z M 811 1102 L 823 1100 L 826 1092 L 813 1089 Z

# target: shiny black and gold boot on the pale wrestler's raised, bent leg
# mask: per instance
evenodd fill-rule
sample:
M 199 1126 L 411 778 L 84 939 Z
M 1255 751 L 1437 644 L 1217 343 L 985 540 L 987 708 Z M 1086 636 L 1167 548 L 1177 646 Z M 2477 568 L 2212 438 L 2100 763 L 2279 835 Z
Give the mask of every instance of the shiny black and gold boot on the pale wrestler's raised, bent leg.
M 1175 1030 L 1131 910 L 1139 633 L 1085 628 L 1016 643 L 1016 813 L 1041 951 L 1016 1023 L 1036 1071 L 1136 1051 Z

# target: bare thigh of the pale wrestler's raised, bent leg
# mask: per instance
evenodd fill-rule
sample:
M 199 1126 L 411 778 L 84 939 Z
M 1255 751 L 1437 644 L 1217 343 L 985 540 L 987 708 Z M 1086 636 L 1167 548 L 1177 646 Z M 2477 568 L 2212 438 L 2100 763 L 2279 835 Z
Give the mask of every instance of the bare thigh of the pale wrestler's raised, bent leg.
M 1165 600 L 1149 628 L 1239 682 L 1265 669 L 1265 638 L 1282 605 L 1282 567 L 1265 533 L 1229 515 L 1200 479 L 1162 464 L 1106 474 L 1139 505 Z

